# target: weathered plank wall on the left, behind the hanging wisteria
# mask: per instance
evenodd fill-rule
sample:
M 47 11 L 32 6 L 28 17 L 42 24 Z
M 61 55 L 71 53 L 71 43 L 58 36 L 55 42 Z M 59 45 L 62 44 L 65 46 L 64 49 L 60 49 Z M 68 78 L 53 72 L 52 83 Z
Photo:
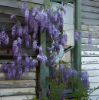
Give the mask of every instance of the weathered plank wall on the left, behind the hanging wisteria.
M 2 25 L 6 24 L 6 33 L 10 36 L 10 44 L 6 47 L 0 47 L 0 67 L 2 63 L 13 61 L 11 28 L 16 23 L 10 20 L 10 15 L 15 14 L 17 20 L 24 24 L 24 17 L 21 14 L 21 6 L 24 2 L 28 5 L 41 10 L 44 8 L 44 0 L 0 0 L 0 30 Z M 32 48 L 23 48 L 23 52 L 32 57 L 36 57 L 37 52 L 33 52 Z M 24 62 L 24 61 L 23 61 Z M 31 70 L 28 75 L 23 74 L 19 80 L 8 80 L 7 75 L 0 70 L 0 100 L 26 100 L 28 96 L 36 96 L 37 77 L 36 68 Z

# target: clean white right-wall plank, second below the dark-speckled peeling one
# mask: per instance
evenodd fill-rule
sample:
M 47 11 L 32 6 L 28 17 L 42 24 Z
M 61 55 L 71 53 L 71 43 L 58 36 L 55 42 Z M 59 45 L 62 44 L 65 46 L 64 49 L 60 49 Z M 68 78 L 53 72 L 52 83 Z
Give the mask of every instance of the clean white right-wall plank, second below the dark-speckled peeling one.
M 99 70 L 99 64 L 85 64 L 81 68 L 82 70 Z

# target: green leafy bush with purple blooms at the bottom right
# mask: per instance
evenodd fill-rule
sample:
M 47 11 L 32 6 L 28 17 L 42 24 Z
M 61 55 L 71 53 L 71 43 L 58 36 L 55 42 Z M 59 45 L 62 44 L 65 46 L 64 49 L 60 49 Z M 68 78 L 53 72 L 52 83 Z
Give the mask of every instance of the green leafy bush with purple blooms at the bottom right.
M 66 73 L 65 77 L 67 76 L 67 78 L 64 77 L 64 80 L 67 83 L 68 81 L 72 83 L 75 100 L 91 100 L 89 98 L 90 94 L 99 89 L 99 86 L 93 89 L 90 88 L 88 73 L 86 71 L 77 72 L 68 68 L 60 71 L 62 71 L 63 74 Z M 42 98 L 41 100 L 68 100 L 66 96 L 67 86 L 64 84 L 57 85 L 55 81 L 50 82 L 49 85 L 50 92 L 49 90 L 47 91 L 47 98 Z

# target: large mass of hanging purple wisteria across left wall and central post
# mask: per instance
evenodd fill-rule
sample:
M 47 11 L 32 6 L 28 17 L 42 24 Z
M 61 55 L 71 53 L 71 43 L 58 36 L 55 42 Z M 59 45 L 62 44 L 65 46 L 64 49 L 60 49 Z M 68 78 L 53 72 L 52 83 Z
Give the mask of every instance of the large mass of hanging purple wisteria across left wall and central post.
M 57 54 L 60 51 L 60 45 L 64 46 L 67 42 L 67 35 L 63 35 L 60 32 L 60 27 L 63 26 L 63 17 L 62 11 L 66 13 L 64 7 L 61 7 L 57 11 L 53 11 L 52 9 L 48 8 L 47 10 L 37 10 L 36 8 L 28 9 L 27 4 L 24 3 L 21 8 L 21 12 L 25 16 L 26 25 L 22 26 L 21 23 L 18 21 L 13 27 L 11 31 L 12 35 L 12 51 L 13 51 L 13 58 L 14 61 L 11 62 L 9 66 L 6 63 L 2 64 L 1 69 L 7 73 L 8 79 L 19 79 L 23 72 L 28 75 L 30 69 L 33 69 L 35 66 L 38 65 L 38 62 L 46 63 L 47 57 L 43 55 L 43 48 L 42 46 L 38 46 L 38 42 L 36 41 L 37 34 L 44 34 L 44 29 L 48 30 L 48 34 L 52 40 L 53 48 L 47 47 L 49 51 L 54 49 Z M 16 16 L 11 15 L 10 19 L 14 19 Z M 5 35 L 5 31 L 2 31 L 2 34 Z M 3 35 L 2 35 L 3 36 Z M 32 36 L 32 37 L 31 37 Z M 6 37 L 6 35 L 5 35 Z M 4 39 L 4 38 L 3 38 Z M 9 38 L 5 39 L 5 44 L 8 44 Z M 22 53 L 22 45 L 23 43 L 26 44 L 28 48 L 30 43 L 33 43 L 32 49 L 33 51 L 38 50 L 39 54 L 37 55 L 36 59 L 32 57 L 28 57 L 25 53 Z M 22 63 L 22 59 L 25 58 L 25 62 Z M 54 56 L 50 57 L 49 67 L 51 68 L 52 74 L 54 74 L 54 68 L 52 64 L 54 63 Z

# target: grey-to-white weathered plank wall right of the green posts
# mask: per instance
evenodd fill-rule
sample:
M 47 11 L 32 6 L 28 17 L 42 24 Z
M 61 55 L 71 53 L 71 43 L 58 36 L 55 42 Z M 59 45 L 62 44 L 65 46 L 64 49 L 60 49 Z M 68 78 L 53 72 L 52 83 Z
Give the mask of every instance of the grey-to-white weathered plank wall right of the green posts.
M 81 0 L 82 23 L 82 70 L 89 74 L 90 86 L 99 86 L 99 0 Z M 90 28 L 90 32 L 87 31 Z M 92 35 L 92 44 L 88 44 L 88 35 Z M 99 97 L 99 90 L 90 96 Z M 97 99 L 98 100 L 98 99 Z

